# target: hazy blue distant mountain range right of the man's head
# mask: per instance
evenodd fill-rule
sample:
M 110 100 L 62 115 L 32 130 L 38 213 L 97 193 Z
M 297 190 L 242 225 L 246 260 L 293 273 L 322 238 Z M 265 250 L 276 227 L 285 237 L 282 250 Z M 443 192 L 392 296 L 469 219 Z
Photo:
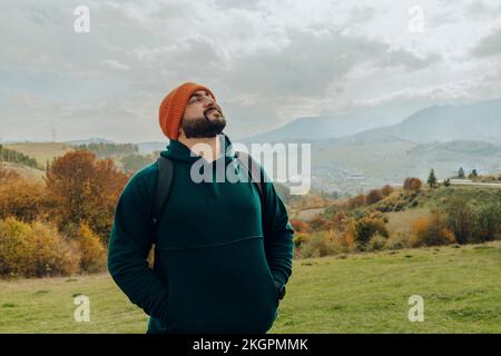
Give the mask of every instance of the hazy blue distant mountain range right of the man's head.
M 501 98 L 471 105 L 433 106 L 405 119 L 396 119 L 395 115 L 380 108 L 357 115 L 299 118 L 239 141 L 273 144 L 342 139 L 343 142 L 370 144 L 474 140 L 501 144 Z

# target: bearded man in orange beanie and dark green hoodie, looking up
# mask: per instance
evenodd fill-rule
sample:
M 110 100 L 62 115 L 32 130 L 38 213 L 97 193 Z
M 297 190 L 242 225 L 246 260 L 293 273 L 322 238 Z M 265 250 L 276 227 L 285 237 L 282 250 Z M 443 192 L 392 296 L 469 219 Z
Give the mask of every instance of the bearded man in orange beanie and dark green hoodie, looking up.
M 263 211 L 248 179 L 194 181 L 200 159 L 213 174 L 228 165 L 245 171 L 226 149 L 226 119 L 208 88 L 186 82 L 174 89 L 160 105 L 159 122 L 170 139 L 160 155 L 173 161 L 174 178 L 154 268 L 147 256 L 156 164 L 135 174 L 120 195 L 108 249 L 114 280 L 149 315 L 147 333 L 266 333 L 292 274 L 294 231 L 283 201 L 271 181 Z M 191 150 L 197 144 L 213 154 Z

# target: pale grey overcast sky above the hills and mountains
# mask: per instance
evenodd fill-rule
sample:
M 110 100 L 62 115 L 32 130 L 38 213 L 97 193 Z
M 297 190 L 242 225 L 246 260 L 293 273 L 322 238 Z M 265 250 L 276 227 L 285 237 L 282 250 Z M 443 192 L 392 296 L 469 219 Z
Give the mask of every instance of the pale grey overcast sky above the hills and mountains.
M 161 141 L 184 81 L 213 90 L 233 138 L 501 97 L 499 0 L 2 0 L 0 17 L 2 140 Z

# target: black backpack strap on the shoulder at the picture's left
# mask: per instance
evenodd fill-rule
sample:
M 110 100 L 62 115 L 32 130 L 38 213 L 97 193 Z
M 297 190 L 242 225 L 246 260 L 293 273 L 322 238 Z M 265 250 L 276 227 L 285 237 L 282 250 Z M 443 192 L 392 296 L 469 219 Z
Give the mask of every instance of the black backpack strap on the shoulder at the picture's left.
M 160 220 L 164 205 L 167 201 L 169 195 L 170 184 L 173 182 L 174 167 L 173 161 L 167 157 L 160 156 L 157 159 L 158 176 L 157 188 L 155 191 L 155 202 L 151 214 L 151 227 L 154 234 L 154 243 L 157 240 L 158 221 Z

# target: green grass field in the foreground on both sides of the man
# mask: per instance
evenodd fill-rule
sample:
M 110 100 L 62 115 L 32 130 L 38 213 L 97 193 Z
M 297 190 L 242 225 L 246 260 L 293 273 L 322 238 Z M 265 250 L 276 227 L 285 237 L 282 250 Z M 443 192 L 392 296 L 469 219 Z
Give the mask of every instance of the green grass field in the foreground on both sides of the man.
M 501 333 L 501 243 L 294 260 L 269 333 Z M 73 320 L 73 297 L 90 322 Z M 411 323 L 411 295 L 424 322 Z M 0 281 L 0 333 L 145 333 L 107 274 Z

